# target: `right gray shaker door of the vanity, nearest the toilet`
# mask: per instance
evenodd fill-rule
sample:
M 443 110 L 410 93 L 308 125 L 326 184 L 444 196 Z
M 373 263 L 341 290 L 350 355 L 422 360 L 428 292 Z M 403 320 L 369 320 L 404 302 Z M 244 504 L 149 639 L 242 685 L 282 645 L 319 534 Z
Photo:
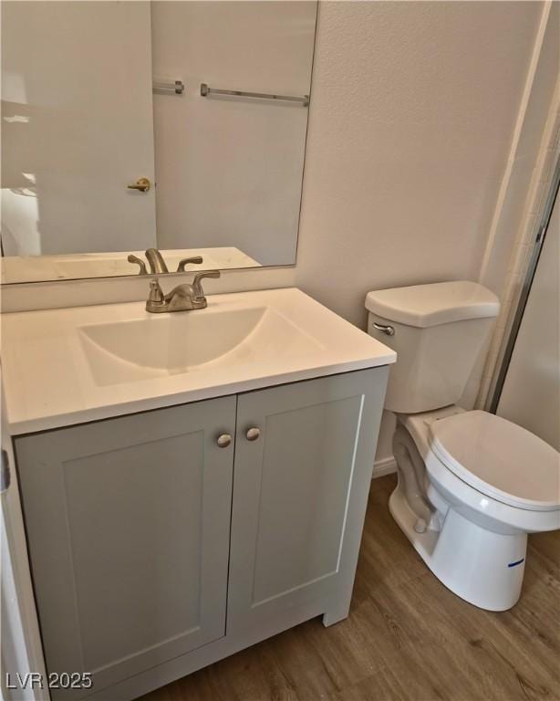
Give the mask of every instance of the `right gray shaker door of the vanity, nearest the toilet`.
M 379 368 L 239 396 L 228 633 L 310 602 L 347 614 L 386 383 Z

